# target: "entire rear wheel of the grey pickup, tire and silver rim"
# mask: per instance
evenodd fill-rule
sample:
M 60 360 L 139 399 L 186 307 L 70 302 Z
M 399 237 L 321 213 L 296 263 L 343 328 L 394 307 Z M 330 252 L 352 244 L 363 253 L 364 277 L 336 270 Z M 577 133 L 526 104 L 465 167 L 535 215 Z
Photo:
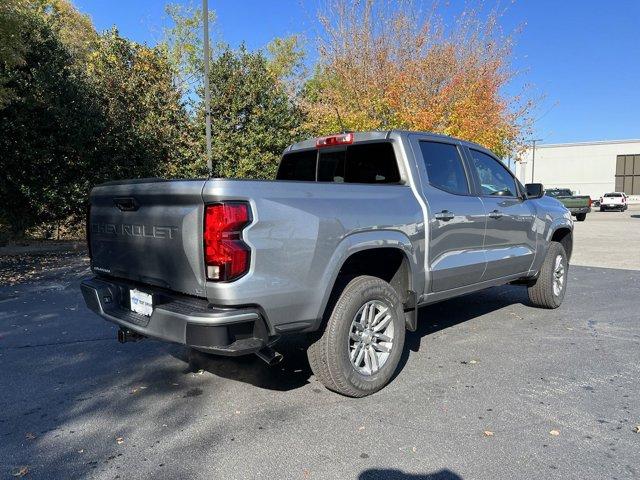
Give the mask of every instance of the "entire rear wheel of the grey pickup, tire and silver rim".
M 316 378 L 329 390 L 364 397 L 389 383 L 404 337 L 397 292 L 387 282 L 363 275 L 344 288 L 307 356 Z

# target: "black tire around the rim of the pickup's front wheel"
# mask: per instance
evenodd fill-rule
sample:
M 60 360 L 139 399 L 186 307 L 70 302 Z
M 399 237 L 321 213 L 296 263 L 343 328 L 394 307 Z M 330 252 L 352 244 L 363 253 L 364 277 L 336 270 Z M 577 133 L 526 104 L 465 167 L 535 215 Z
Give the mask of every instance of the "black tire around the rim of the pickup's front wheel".
M 554 281 L 556 277 L 556 259 L 558 257 L 561 258 L 563 282 L 562 287 L 556 291 L 554 289 Z M 542 263 L 540 274 L 535 283 L 528 288 L 531 303 L 540 308 L 558 308 L 562 304 L 567 291 L 568 271 L 567 252 L 565 252 L 562 244 L 551 242 L 549 250 L 547 250 L 547 256 Z

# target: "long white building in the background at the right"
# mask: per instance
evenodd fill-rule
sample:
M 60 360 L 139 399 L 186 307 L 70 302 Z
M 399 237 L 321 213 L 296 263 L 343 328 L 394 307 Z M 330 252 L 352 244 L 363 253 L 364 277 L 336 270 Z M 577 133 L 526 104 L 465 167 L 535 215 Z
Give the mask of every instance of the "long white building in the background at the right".
M 640 140 L 536 145 L 516 165 L 522 183 L 569 188 L 599 198 L 606 192 L 640 196 Z

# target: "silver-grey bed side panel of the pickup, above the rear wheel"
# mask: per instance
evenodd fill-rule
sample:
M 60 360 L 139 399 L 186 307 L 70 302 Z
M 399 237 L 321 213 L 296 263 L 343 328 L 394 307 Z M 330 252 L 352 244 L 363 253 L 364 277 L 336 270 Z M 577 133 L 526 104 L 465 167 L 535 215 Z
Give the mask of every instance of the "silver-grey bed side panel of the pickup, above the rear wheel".
M 252 248 L 249 273 L 207 283 L 207 297 L 217 305 L 257 304 L 276 331 L 317 325 L 340 267 L 355 251 L 396 247 L 414 272 L 424 264 L 422 211 L 405 185 L 211 180 L 203 199 L 245 200 L 253 212 L 243 232 Z

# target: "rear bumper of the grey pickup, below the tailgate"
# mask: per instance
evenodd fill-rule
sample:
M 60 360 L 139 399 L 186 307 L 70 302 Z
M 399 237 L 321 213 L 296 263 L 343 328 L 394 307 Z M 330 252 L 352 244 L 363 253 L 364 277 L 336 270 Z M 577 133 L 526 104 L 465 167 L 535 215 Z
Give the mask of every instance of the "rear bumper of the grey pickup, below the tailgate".
M 255 353 L 275 340 L 256 308 L 217 308 L 204 299 L 101 277 L 85 279 L 80 288 L 95 313 L 146 337 L 221 355 Z M 131 288 L 153 295 L 150 317 L 130 310 Z

